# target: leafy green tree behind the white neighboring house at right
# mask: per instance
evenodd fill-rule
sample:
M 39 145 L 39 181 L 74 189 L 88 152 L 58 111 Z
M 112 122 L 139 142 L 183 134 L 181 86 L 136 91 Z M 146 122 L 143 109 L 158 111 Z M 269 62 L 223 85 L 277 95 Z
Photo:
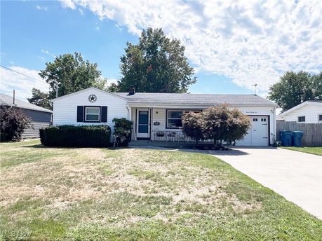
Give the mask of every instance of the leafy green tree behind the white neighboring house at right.
M 268 98 L 283 111 L 307 100 L 322 100 L 322 72 L 311 75 L 306 71 L 288 71 L 278 83 L 271 85 Z

